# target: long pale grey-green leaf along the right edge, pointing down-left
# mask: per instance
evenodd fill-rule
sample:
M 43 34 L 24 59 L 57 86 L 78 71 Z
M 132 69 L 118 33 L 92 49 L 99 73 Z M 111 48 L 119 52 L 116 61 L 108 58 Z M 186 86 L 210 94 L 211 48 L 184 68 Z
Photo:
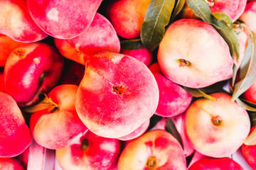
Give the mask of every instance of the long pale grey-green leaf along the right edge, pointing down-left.
M 256 34 L 250 31 L 247 49 L 239 69 L 239 81 L 235 83 L 232 101 L 235 101 L 255 81 L 256 78 Z

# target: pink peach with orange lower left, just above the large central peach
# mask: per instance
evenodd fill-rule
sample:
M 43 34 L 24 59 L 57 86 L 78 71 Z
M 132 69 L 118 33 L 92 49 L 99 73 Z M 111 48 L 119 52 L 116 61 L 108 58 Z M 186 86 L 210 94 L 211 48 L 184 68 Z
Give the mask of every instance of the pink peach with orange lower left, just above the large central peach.
M 116 31 L 110 21 L 100 13 L 95 14 L 90 26 L 80 35 L 68 40 L 55 38 L 55 45 L 64 57 L 80 64 L 85 64 L 91 55 L 98 52 L 120 52 Z

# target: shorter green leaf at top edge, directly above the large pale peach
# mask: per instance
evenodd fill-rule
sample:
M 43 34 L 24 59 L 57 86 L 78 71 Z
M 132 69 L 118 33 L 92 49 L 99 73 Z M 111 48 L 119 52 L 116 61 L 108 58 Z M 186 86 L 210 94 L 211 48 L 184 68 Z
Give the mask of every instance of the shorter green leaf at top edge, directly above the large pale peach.
M 210 8 L 204 0 L 187 0 L 188 7 L 193 10 L 195 16 L 201 18 L 206 23 L 215 23 L 210 13 Z

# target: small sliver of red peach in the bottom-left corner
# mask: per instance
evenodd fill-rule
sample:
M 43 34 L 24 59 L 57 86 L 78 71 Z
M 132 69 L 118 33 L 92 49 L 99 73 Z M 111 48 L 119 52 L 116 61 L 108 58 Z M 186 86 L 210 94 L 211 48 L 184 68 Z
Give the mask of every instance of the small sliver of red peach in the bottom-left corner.
M 2 170 L 24 170 L 18 160 L 14 158 L 0 158 L 0 169 Z

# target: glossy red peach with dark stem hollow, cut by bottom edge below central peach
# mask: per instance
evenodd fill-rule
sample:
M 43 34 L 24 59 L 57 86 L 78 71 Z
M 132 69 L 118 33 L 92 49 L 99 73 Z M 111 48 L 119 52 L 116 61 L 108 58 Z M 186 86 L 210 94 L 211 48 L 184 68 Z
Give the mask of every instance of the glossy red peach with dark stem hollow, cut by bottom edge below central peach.
M 100 137 L 89 130 L 80 141 L 56 150 L 56 159 L 63 170 L 109 170 L 117 166 L 120 141 Z

